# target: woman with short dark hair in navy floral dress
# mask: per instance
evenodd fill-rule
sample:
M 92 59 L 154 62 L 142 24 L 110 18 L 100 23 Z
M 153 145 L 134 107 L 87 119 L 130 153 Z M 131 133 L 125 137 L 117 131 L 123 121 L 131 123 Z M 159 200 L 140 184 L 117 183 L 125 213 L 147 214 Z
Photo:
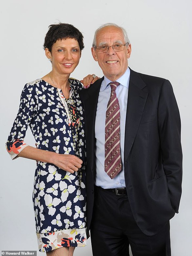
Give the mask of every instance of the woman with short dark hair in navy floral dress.
M 83 48 L 83 35 L 72 25 L 49 26 L 44 49 L 52 70 L 25 85 L 6 144 L 12 159 L 37 161 L 36 232 L 39 251 L 50 256 L 73 255 L 76 246 L 86 245 L 85 138 L 78 95 L 82 84 L 69 78 Z M 87 76 L 86 85 L 96 79 Z M 24 142 L 28 126 L 37 148 Z

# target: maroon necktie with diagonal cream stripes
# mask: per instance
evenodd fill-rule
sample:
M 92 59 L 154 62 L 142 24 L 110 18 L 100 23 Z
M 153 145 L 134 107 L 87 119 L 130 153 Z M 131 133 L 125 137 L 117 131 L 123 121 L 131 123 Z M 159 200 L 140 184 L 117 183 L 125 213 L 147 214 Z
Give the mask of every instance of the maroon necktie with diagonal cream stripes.
M 120 155 L 120 108 L 115 89 L 119 82 L 109 83 L 111 95 L 107 104 L 105 124 L 105 172 L 113 179 L 122 168 Z

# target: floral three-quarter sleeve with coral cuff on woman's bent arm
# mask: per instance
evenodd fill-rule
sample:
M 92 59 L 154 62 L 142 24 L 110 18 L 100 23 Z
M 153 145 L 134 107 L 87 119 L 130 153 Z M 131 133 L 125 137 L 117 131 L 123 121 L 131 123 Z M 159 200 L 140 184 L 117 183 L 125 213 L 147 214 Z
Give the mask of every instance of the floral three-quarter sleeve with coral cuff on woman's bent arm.
M 12 159 L 17 158 L 17 155 L 28 146 L 25 143 L 24 138 L 38 106 L 35 88 L 36 86 L 34 83 L 28 83 L 24 86 L 21 94 L 19 111 L 6 143 L 6 149 Z

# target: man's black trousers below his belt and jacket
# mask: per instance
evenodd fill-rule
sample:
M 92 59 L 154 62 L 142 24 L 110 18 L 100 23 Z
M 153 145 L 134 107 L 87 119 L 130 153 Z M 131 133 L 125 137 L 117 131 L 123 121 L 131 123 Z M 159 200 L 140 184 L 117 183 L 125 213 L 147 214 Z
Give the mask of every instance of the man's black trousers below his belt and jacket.
M 169 221 L 154 235 L 145 235 L 135 222 L 127 196 L 95 187 L 90 234 L 93 256 L 170 256 Z

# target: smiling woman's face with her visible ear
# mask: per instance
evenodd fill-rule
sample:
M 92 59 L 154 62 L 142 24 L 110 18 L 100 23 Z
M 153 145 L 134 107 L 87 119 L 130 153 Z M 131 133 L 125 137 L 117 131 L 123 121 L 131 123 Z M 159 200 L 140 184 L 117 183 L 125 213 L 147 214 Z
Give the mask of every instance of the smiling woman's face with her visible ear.
M 46 56 L 52 61 L 53 70 L 60 75 L 72 73 L 81 57 L 79 43 L 74 38 L 57 40 L 52 46 L 51 53 L 48 48 L 45 51 Z

